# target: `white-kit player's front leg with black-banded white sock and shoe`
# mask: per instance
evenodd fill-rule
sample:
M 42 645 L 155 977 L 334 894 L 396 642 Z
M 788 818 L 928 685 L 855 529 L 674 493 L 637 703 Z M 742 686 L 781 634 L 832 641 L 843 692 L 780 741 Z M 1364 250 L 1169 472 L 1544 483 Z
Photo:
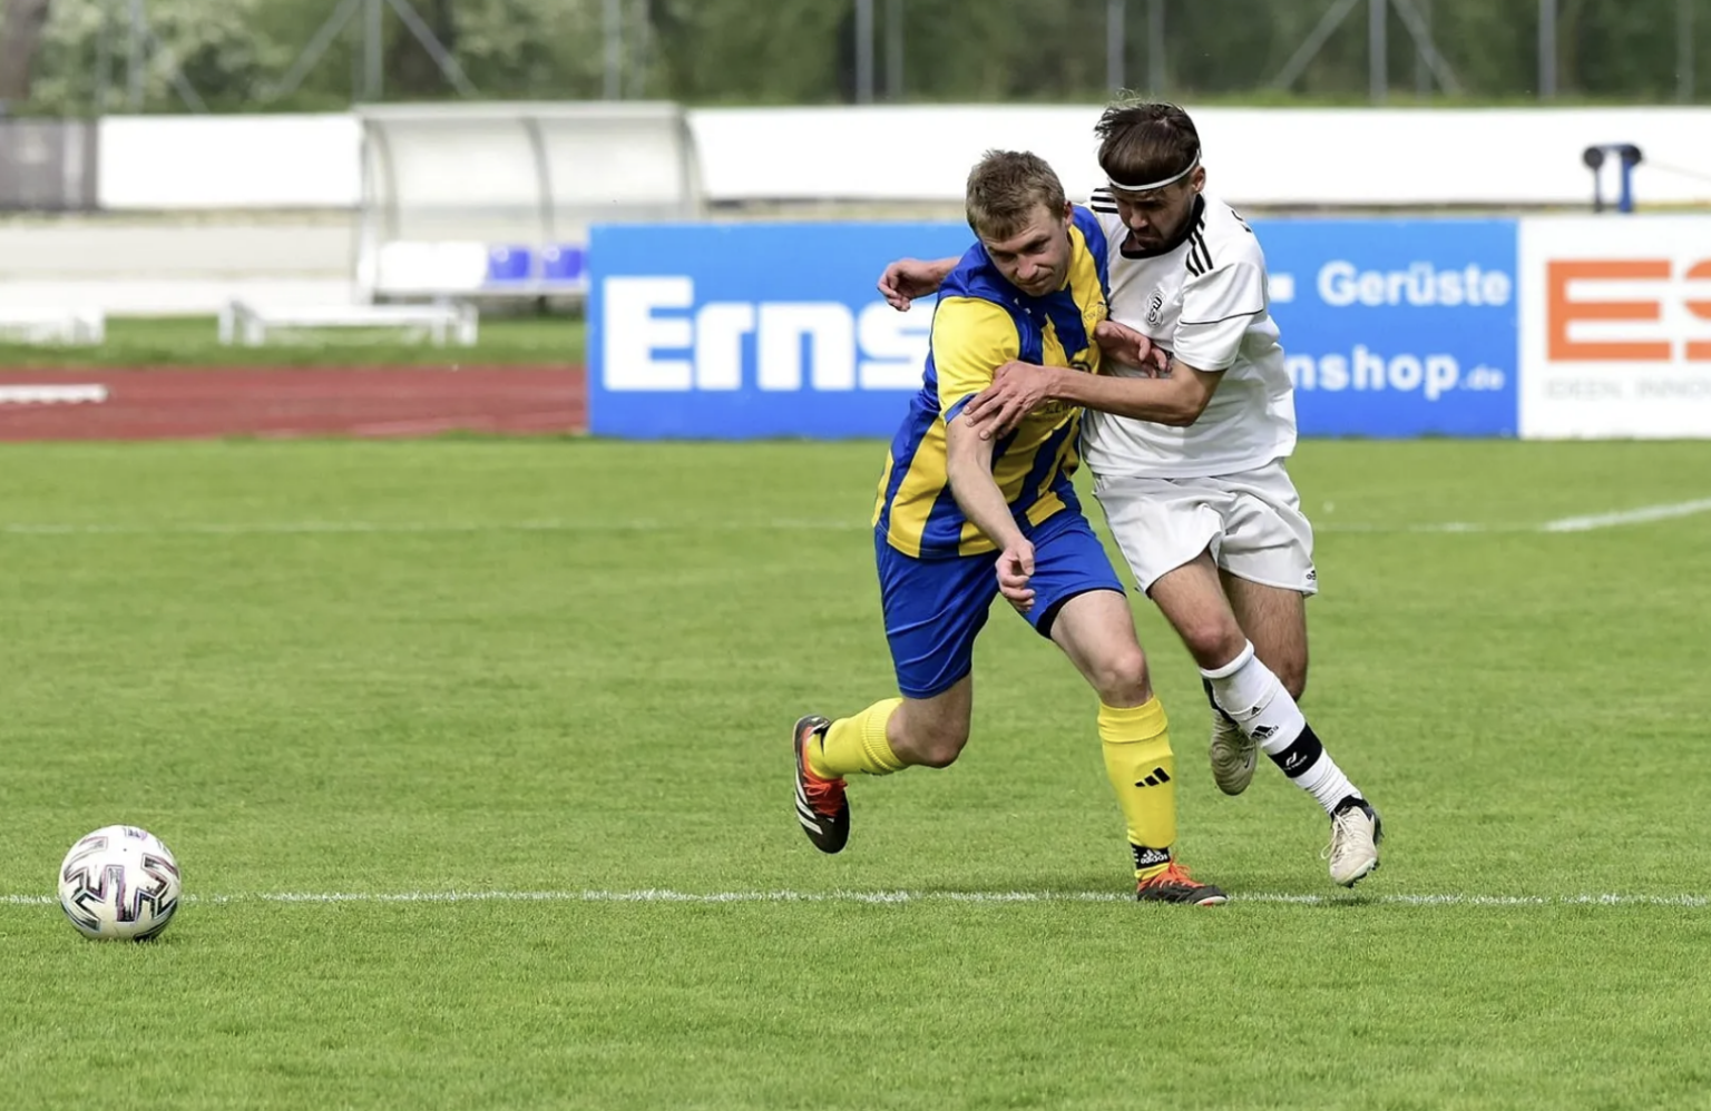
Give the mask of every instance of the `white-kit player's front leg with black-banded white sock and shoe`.
M 1160 576 L 1148 593 L 1187 644 L 1217 706 L 1331 815 L 1331 879 L 1353 885 L 1377 868 L 1382 836 L 1377 814 L 1324 750 L 1294 696 L 1256 655 L 1223 593 L 1211 554 L 1203 552 Z M 1304 665 L 1305 656 L 1302 677 Z

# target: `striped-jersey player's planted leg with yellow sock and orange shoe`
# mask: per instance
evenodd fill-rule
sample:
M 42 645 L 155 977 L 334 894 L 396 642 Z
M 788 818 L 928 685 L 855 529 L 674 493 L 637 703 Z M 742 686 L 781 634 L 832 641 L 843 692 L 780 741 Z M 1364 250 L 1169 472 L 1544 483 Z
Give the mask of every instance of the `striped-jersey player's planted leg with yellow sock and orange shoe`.
M 1100 750 L 1117 793 L 1134 856 L 1134 897 L 1218 906 L 1227 896 L 1175 860 L 1175 757 L 1163 706 L 1153 696 L 1146 655 L 1134 636 L 1129 598 L 1090 590 L 1063 603 L 1052 641 L 1098 692 Z

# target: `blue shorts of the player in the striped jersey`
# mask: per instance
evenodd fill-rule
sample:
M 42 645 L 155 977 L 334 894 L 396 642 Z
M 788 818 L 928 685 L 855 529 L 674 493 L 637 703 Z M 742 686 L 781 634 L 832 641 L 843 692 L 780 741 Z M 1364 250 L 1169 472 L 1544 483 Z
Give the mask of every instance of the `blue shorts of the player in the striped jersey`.
M 891 644 L 897 689 L 926 699 L 950 691 L 974 667 L 974 638 L 998 597 L 998 552 L 915 559 L 874 533 L 885 639 Z M 1033 608 L 1025 617 L 1052 634 L 1063 603 L 1090 590 L 1122 593 L 1105 547 L 1076 509 L 1063 509 L 1028 535 L 1033 542 Z

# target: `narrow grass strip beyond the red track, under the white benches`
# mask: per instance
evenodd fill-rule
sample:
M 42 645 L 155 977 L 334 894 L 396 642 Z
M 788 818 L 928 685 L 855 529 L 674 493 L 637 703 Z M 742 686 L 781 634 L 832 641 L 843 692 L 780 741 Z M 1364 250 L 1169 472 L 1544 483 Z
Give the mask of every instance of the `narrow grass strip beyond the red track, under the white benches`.
M 116 318 L 106 342 L 39 347 L 0 342 L 0 366 L 183 367 L 183 366 L 559 366 L 580 364 L 583 321 L 571 316 L 486 316 L 474 347 L 406 342 L 397 330 L 305 332 L 262 347 L 224 345 L 212 316 Z

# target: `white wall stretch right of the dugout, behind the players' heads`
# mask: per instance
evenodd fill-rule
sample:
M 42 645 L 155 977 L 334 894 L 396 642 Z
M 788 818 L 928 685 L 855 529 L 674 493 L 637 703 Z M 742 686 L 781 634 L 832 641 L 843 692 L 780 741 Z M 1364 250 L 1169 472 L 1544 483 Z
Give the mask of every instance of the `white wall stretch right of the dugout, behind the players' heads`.
M 1189 111 L 1208 190 L 1254 207 L 1579 205 L 1581 152 L 1636 144 L 1644 203 L 1711 203 L 1711 109 Z M 989 147 L 1044 156 L 1071 193 L 1100 181 L 1098 108 L 799 108 L 690 115 L 715 200 L 962 200 Z

